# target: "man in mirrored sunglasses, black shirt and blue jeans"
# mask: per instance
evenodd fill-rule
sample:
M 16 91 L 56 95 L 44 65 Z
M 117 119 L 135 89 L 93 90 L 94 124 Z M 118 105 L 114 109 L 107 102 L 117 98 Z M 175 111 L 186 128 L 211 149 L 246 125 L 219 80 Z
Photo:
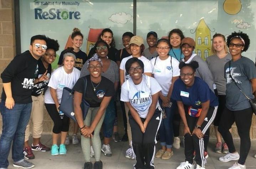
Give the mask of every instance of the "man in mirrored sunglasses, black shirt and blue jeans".
M 0 168 L 7 169 L 12 143 L 14 167 L 32 168 L 33 163 L 24 160 L 25 129 L 29 122 L 37 62 L 46 52 L 44 35 L 31 37 L 29 51 L 18 54 L 1 74 L 3 82 L 0 111 L 2 135 L 0 138 Z M 43 79 L 44 80 L 44 79 Z

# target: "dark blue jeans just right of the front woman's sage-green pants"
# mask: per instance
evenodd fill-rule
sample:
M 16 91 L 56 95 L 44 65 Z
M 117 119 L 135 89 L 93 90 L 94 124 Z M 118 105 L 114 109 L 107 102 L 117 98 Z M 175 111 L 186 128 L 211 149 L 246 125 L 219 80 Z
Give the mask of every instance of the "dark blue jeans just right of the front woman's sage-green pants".
M 115 109 L 114 99 L 111 99 L 108 107 L 106 109 L 105 118 L 103 121 L 103 136 L 110 138 L 113 134 L 114 122 L 116 118 L 116 109 Z

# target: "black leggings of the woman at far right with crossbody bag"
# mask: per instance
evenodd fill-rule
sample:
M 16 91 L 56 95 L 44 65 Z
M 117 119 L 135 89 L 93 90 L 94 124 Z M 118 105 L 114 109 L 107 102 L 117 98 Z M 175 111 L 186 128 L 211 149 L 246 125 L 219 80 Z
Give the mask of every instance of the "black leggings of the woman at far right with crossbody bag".
M 229 147 L 229 152 L 236 152 L 232 135 L 229 131 L 233 123 L 236 122 L 237 131 L 240 137 L 240 158 L 239 164 L 244 165 L 251 147 L 250 128 L 252 123 L 252 108 L 231 111 L 225 107 L 220 118 L 218 131 Z

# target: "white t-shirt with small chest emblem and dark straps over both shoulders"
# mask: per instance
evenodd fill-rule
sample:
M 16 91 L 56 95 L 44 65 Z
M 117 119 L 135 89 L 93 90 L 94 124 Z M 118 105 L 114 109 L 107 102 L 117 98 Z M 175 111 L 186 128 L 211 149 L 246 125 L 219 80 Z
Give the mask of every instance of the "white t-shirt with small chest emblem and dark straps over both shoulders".
M 172 78 L 180 75 L 179 61 L 173 57 L 168 57 L 165 60 L 156 57 L 150 62 L 153 67 L 154 78 L 161 86 L 163 96 L 167 96 Z

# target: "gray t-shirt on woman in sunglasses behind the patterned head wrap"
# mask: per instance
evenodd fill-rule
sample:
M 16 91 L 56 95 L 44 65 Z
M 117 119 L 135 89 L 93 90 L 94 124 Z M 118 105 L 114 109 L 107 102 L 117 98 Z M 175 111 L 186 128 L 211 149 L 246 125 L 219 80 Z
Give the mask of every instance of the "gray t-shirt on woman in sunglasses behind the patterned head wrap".
M 88 63 L 88 60 L 85 62 L 85 64 L 81 69 L 80 78 L 90 74 L 87 69 L 87 63 Z M 106 72 L 102 72 L 101 75 L 111 80 L 113 83 L 115 83 L 116 81 L 119 81 L 119 69 L 116 62 L 111 60 L 108 70 Z

